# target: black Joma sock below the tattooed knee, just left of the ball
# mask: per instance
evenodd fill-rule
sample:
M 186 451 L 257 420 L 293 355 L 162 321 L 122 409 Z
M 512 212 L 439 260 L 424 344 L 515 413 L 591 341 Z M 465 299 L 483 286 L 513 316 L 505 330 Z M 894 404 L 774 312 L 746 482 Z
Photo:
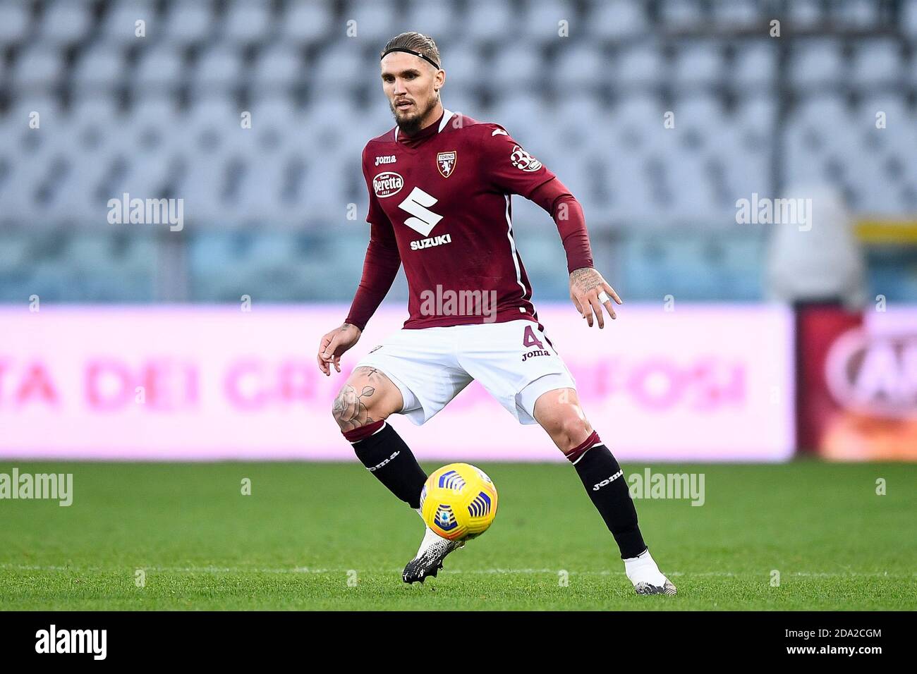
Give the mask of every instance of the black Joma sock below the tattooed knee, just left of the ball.
M 357 458 L 390 492 L 412 508 L 420 507 L 426 473 L 388 422 L 380 420 L 344 431 Z

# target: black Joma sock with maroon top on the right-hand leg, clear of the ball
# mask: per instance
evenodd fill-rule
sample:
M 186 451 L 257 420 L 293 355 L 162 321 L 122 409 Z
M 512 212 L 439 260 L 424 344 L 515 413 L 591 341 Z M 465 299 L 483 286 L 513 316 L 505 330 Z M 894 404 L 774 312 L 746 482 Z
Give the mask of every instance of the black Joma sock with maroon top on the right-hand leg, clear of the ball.
M 636 508 L 627 490 L 624 470 L 599 435 L 592 432 L 579 447 L 565 453 L 576 468 L 586 492 L 621 550 L 621 558 L 635 558 L 646 550 Z

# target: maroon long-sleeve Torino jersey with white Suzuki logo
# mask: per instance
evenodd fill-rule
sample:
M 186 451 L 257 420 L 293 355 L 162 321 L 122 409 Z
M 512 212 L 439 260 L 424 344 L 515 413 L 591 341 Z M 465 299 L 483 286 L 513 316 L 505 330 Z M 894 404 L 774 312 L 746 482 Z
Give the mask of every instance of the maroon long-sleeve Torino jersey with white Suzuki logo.
M 400 264 L 410 290 L 405 328 L 537 321 L 515 246 L 511 194 L 554 216 L 570 271 L 592 266 L 580 204 L 500 125 L 446 110 L 411 137 L 394 127 L 363 149 L 363 175 L 370 246 L 347 318 L 360 329 Z M 481 297 L 484 304 L 448 304 L 450 296 Z

